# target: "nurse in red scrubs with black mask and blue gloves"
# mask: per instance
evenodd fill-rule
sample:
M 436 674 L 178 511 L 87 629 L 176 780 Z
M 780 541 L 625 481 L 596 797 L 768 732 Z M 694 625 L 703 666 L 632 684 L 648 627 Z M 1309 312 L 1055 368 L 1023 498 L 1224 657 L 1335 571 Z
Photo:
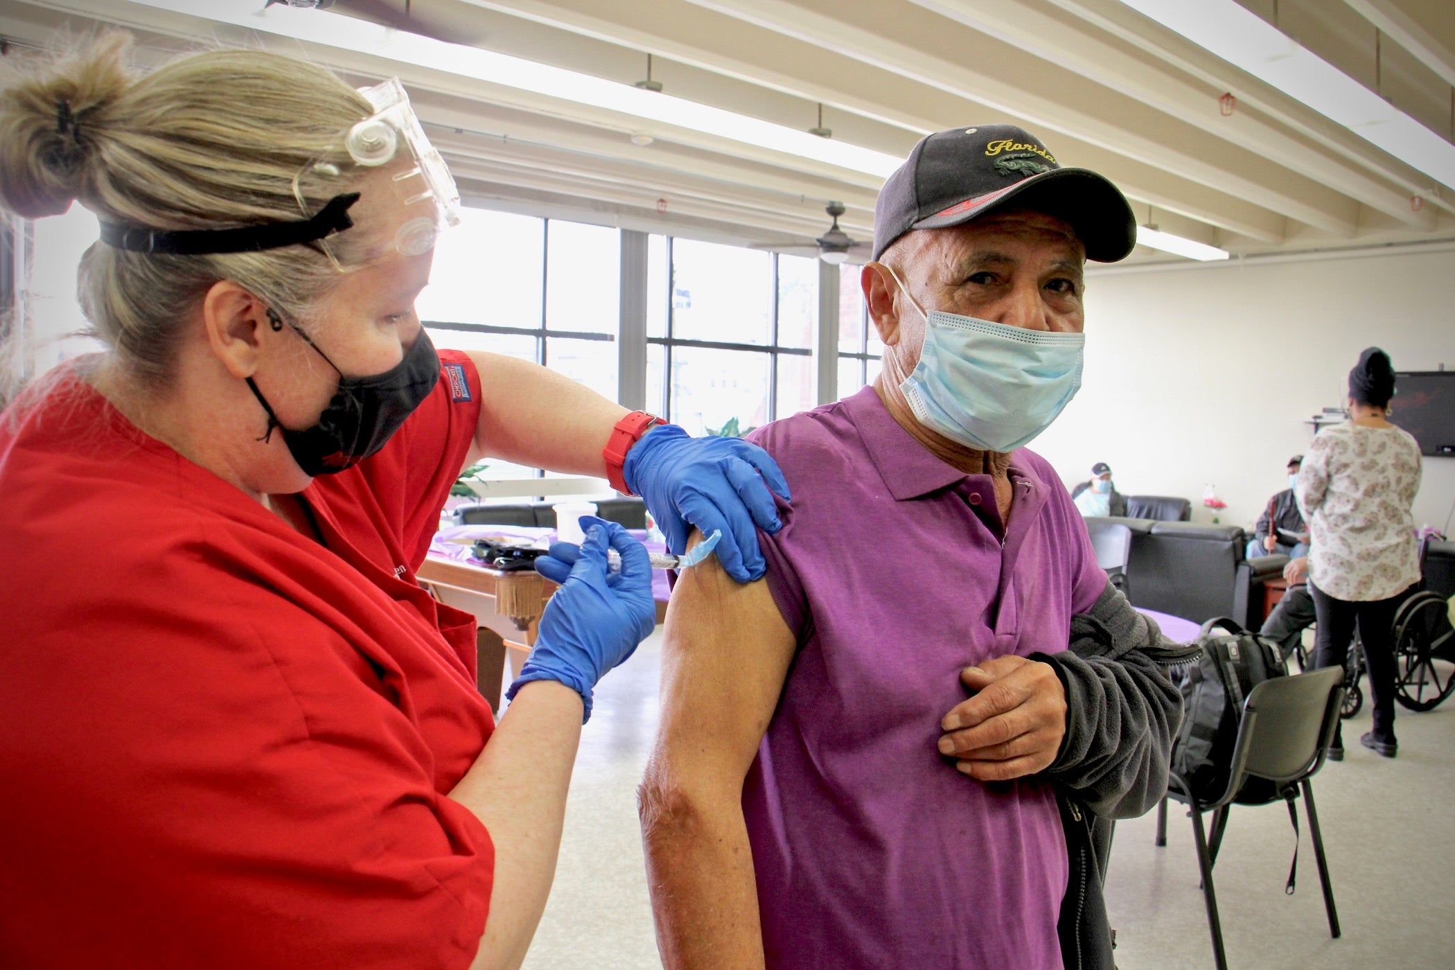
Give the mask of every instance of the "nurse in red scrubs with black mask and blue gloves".
M 514 967 L 594 684 L 652 630 L 620 526 L 496 724 L 415 580 L 485 455 L 610 477 L 761 576 L 776 465 L 415 316 L 458 195 L 397 81 L 124 38 L 0 92 L 0 205 L 103 224 L 105 353 L 0 416 L 0 966 Z M 512 285 L 480 268 L 480 298 Z M 4 332 L 0 330 L 0 334 Z M 608 569 L 607 551 L 621 557 Z

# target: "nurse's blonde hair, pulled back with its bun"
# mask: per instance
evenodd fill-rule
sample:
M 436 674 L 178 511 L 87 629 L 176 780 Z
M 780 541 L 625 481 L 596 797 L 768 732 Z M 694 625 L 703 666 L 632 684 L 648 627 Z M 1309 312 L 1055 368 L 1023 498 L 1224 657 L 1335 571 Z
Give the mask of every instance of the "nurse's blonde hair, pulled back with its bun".
M 372 113 L 317 64 L 266 51 L 204 51 L 135 79 L 131 38 L 108 33 L 48 63 L 16 63 L 0 89 L 0 208 L 210 230 L 297 220 L 294 177 Z M 367 234 L 354 241 L 368 246 Z M 307 326 L 340 275 L 320 249 L 137 253 L 96 243 L 77 294 L 93 333 L 138 385 L 170 378 L 198 300 L 231 279 Z M 0 339 L 3 345 L 3 339 Z M 0 346 L 3 349 L 3 346 Z

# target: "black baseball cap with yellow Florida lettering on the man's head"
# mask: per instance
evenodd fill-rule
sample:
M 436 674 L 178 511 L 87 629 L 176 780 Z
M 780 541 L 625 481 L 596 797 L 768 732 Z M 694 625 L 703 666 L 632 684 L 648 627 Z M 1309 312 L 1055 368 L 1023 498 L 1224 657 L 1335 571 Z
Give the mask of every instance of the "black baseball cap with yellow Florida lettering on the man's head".
M 1099 263 L 1136 246 L 1136 217 L 1109 179 L 1062 169 L 1024 128 L 972 125 L 925 135 L 885 182 L 874 204 L 874 259 L 909 230 L 960 225 L 998 208 L 1064 220 Z

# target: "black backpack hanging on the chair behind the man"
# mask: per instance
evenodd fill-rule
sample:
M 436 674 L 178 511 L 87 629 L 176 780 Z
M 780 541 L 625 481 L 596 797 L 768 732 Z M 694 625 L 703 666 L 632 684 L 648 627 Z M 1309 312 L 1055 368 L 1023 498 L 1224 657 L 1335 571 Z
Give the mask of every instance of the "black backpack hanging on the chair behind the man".
M 1228 633 L 1213 636 L 1213 627 Z M 1187 782 L 1189 794 L 1209 804 L 1228 788 L 1243 701 L 1263 681 L 1288 676 L 1288 665 L 1273 640 L 1225 617 L 1202 624 L 1196 643 L 1202 656 L 1183 673 L 1183 723 L 1173 742 L 1173 772 Z M 1237 795 L 1251 804 L 1277 797 L 1276 785 L 1263 778 L 1248 778 Z

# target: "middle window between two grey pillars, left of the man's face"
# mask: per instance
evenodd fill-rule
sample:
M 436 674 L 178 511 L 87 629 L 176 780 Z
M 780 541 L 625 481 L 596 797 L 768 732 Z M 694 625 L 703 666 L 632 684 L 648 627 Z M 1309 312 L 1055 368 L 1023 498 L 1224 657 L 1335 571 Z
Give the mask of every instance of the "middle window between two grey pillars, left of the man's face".
M 813 406 L 818 262 L 653 236 L 647 407 L 693 435 Z

